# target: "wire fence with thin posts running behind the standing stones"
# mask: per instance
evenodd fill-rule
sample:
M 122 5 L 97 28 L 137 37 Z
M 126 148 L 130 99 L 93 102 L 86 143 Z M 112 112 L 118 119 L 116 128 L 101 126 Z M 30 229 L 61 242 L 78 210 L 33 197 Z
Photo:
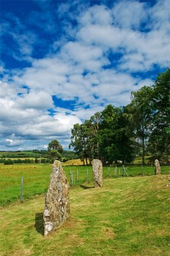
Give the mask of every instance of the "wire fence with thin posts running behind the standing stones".
M 39 166 L 39 169 L 34 173 L 25 171 L 21 173 L 20 177 L 15 177 L 15 173 L 13 175 L 9 173 L 5 175 L 4 173 L 0 181 L 0 206 L 8 205 L 17 200 L 18 202 L 24 202 L 27 198 L 46 193 L 52 166 L 49 166 L 47 170 L 43 170 L 42 167 Z M 64 166 L 64 172 L 71 187 L 94 182 L 92 166 Z M 162 166 L 161 173 L 169 175 L 170 166 Z M 103 167 L 103 179 L 146 175 L 155 175 L 154 167 L 143 165 Z

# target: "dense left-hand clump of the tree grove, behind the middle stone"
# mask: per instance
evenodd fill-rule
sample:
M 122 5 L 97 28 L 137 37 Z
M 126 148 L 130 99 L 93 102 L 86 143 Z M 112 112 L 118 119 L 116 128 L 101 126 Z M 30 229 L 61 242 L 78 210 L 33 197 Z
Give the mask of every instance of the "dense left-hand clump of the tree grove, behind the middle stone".
M 132 141 L 126 135 L 127 118 L 124 108 L 107 106 L 83 124 L 75 124 L 71 145 L 81 159 L 97 158 L 104 163 L 132 161 Z

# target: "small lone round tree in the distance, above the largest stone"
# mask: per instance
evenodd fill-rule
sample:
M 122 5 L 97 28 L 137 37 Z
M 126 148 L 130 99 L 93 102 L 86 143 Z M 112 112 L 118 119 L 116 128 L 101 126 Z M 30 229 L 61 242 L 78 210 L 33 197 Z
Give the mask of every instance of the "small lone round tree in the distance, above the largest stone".
M 62 146 L 60 145 L 59 141 L 52 140 L 48 144 L 48 156 L 50 158 L 50 163 L 53 163 L 55 160 L 61 160 L 62 159 Z

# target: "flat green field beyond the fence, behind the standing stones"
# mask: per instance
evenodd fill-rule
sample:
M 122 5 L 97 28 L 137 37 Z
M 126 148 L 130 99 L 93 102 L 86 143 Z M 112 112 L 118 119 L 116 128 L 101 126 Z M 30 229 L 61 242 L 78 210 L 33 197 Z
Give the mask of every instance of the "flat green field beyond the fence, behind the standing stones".
M 63 166 L 63 168 L 70 183 L 70 173 L 73 172 L 73 186 L 82 184 L 85 181 L 92 182 L 93 180 L 92 166 Z M 78 179 L 76 179 L 77 170 Z M 141 166 L 127 166 L 126 170 L 129 176 L 142 175 Z M 22 177 L 24 178 L 24 200 L 34 195 L 45 193 L 48 188 L 51 172 L 52 165 L 48 164 L 0 164 L 0 205 L 7 205 L 19 200 Z M 161 172 L 163 174 L 169 174 L 170 166 L 162 166 Z M 143 175 L 154 175 L 154 167 L 143 166 Z M 116 172 L 115 167 L 108 168 L 108 166 L 104 166 L 103 177 L 104 179 L 108 177 L 115 179 L 122 177 L 122 167 L 118 166 Z

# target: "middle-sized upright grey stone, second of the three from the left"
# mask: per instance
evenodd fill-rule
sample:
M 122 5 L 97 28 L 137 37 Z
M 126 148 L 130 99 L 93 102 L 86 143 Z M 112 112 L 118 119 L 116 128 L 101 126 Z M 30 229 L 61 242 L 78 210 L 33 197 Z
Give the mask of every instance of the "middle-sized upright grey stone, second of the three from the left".
M 102 187 L 103 186 L 103 166 L 102 162 L 98 159 L 92 161 L 93 166 L 93 175 L 94 175 L 94 186 Z

